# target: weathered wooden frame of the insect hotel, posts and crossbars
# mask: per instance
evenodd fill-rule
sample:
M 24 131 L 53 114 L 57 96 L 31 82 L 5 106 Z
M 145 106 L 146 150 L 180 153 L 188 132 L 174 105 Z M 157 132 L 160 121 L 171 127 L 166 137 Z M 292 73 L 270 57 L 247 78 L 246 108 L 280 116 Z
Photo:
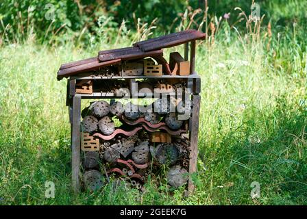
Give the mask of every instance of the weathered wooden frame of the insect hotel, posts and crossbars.
M 189 51 L 189 49 L 191 49 Z M 188 137 L 190 139 L 190 163 L 189 174 L 192 175 L 197 171 L 197 144 L 198 144 L 198 129 L 199 129 L 199 108 L 201 97 L 199 95 L 201 91 L 201 80 L 199 75 L 195 72 L 195 40 L 184 44 L 184 60 L 188 60 L 188 54 L 190 52 L 190 73 L 191 75 L 160 75 L 160 76 L 121 76 L 112 77 L 112 79 L 126 79 L 134 81 L 135 79 L 165 79 L 168 83 L 171 83 L 174 79 L 186 80 L 187 87 L 191 89 L 191 100 L 193 101 L 193 112 L 191 118 L 188 120 Z M 91 60 L 90 60 L 91 61 Z M 110 79 L 108 77 L 78 77 L 71 75 L 67 83 L 67 97 L 66 105 L 69 106 L 69 120 L 71 123 L 71 168 L 72 168 L 72 187 L 74 192 L 80 190 L 80 153 L 81 153 L 81 101 L 82 99 L 113 99 L 121 98 L 115 96 L 112 93 L 95 93 L 85 94 L 76 92 L 76 83 L 82 79 Z M 134 88 L 130 88 L 130 94 Z M 152 97 L 152 96 L 151 96 Z M 130 96 L 130 98 L 143 98 L 143 96 Z M 150 95 L 149 95 L 150 98 Z M 188 194 L 192 194 L 195 190 L 195 185 L 191 177 L 188 179 Z

